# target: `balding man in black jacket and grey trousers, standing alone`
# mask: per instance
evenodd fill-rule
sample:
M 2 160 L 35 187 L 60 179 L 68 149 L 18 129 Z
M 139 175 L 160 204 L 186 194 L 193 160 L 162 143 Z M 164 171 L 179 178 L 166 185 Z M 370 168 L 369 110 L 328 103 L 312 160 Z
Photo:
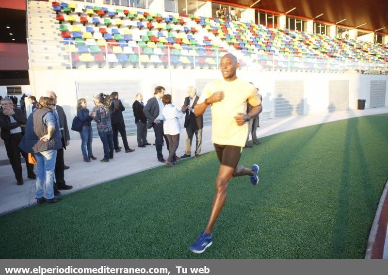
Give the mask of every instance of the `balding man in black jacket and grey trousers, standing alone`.
M 144 103 L 143 95 L 137 94 L 136 100 L 132 104 L 133 115 L 135 116 L 135 123 L 137 128 L 137 146 L 146 147 L 146 145 L 151 145 L 147 141 L 147 118 L 143 113 Z

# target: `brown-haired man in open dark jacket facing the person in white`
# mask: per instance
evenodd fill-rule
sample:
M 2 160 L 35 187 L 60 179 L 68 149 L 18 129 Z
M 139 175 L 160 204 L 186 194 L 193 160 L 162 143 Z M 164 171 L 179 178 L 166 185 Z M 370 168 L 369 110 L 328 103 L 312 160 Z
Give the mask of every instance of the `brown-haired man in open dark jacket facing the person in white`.
M 163 137 L 166 141 L 167 148 L 169 148 L 168 140 L 163 131 L 163 115 L 162 110 L 164 107 L 162 97 L 164 95 L 164 88 L 157 86 L 155 88 L 154 95 L 148 99 L 146 106 L 144 106 L 143 113 L 147 118 L 147 129 L 154 129 L 155 132 L 155 147 L 159 162 L 165 162 L 162 154 Z

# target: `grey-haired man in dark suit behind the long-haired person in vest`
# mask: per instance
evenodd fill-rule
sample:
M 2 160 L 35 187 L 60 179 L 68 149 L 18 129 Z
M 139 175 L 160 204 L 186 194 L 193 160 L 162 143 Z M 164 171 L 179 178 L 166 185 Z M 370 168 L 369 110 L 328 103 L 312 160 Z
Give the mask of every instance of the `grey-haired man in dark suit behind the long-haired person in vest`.
M 57 159 L 55 162 L 55 181 L 54 184 L 54 195 L 60 195 L 61 192 L 59 190 L 68 190 L 72 189 L 73 186 L 67 185 L 65 181 L 65 161 L 64 161 L 64 149 L 66 149 L 66 146 L 70 145 L 70 134 L 69 134 L 69 128 L 67 127 L 67 119 L 66 114 L 64 112 L 64 109 L 57 105 L 57 95 L 53 91 L 47 91 L 46 93 L 47 97 L 55 99 L 55 108 L 54 108 L 54 114 L 57 116 L 59 123 L 60 123 L 60 134 L 62 139 L 62 146 L 63 148 L 57 150 Z

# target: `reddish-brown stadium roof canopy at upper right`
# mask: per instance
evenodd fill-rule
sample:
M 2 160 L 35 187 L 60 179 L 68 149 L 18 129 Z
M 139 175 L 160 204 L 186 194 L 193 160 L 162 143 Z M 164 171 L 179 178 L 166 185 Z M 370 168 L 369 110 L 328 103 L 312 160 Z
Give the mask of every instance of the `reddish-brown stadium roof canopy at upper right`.
M 257 0 L 214 0 L 213 2 L 249 7 Z M 314 18 L 323 13 L 323 16 L 319 16 L 316 20 L 335 23 L 346 18 L 340 23 L 341 25 L 356 27 L 366 23 L 360 29 L 376 31 L 385 27 L 379 32 L 388 34 L 388 0 L 260 0 L 253 5 L 253 8 L 280 13 L 286 13 L 294 7 L 296 9 L 288 16 Z

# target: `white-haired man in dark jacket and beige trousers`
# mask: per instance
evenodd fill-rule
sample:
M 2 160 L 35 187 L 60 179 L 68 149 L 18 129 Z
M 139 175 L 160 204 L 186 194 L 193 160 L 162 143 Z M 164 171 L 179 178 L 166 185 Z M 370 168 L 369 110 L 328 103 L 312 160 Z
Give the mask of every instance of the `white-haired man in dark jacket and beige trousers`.
M 195 134 L 195 152 L 194 158 L 199 157 L 201 154 L 202 145 L 202 128 L 203 128 L 203 117 L 202 115 L 195 116 L 194 106 L 197 104 L 199 97 L 194 87 L 187 89 L 188 97 L 185 98 L 185 102 L 182 106 L 182 113 L 186 113 L 185 116 L 185 128 L 186 128 L 186 149 L 181 159 L 188 158 L 191 156 L 191 145 L 193 142 L 193 136 Z

